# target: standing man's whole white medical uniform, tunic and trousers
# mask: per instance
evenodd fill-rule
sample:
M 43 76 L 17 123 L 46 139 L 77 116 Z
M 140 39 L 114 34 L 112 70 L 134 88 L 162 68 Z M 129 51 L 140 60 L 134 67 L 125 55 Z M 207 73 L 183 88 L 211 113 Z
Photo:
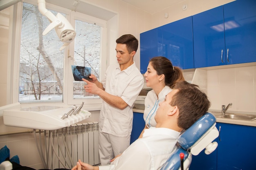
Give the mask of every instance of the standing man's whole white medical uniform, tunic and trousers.
M 132 107 L 139 95 L 144 78 L 135 63 L 121 71 L 119 64 L 109 66 L 101 82 L 105 91 L 121 97 L 128 104 L 120 110 L 103 101 L 99 116 L 99 154 L 101 165 L 121 154 L 130 145 L 132 132 Z

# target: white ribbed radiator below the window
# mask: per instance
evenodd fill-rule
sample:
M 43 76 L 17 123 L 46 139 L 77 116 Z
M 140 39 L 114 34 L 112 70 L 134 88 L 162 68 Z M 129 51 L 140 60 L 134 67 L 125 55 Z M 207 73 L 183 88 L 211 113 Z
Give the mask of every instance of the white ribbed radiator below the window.
M 90 165 L 99 164 L 99 122 L 74 124 L 58 130 L 44 131 L 39 135 L 38 152 L 46 169 L 71 169 L 81 159 Z M 41 147 L 38 146 L 38 143 Z

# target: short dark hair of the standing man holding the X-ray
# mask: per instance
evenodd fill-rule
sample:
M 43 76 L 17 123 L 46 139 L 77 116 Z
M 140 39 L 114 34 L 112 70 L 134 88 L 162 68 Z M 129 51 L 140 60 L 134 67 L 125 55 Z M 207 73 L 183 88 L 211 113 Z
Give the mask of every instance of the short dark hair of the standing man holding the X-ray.
M 135 36 L 131 34 L 125 34 L 116 40 L 117 44 L 126 44 L 126 48 L 129 53 L 132 51 L 137 52 L 139 42 Z

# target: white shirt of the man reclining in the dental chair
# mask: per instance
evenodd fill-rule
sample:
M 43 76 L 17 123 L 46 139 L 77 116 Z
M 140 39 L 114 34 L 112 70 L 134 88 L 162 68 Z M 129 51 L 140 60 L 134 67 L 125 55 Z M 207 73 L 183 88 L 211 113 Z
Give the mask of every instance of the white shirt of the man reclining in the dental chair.
M 120 157 L 99 170 L 160 170 L 176 149 L 180 132 L 168 128 L 145 129 Z

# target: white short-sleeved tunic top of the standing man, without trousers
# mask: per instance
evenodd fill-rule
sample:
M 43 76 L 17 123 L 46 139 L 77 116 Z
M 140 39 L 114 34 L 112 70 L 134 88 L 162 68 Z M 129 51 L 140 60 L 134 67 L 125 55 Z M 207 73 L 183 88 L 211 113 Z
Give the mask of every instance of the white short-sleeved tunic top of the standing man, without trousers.
M 121 97 L 128 104 L 123 110 L 115 108 L 103 101 L 99 116 L 99 126 L 102 132 L 126 137 L 132 131 L 132 107 L 139 95 L 144 78 L 135 63 L 121 71 L 119 64 L 109 66 L 105 79 L 101 82 L 105 91 L 111 95 Z

